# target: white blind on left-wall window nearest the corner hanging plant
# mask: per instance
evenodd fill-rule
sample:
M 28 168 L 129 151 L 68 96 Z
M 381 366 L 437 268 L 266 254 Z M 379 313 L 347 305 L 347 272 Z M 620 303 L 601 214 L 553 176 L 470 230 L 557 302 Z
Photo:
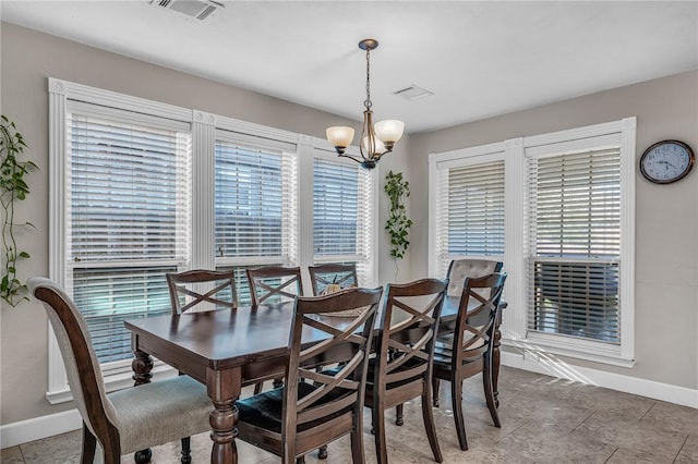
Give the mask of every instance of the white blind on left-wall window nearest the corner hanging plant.
M 313 166 L 314 262 L 356 262 L 371 282 L 373 176 L 356 163 L 316 157 Z

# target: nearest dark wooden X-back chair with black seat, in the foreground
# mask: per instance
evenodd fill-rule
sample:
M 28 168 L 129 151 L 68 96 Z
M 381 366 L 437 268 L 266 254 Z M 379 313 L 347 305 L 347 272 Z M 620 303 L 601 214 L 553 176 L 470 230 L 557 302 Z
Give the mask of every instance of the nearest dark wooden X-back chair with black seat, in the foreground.
M 364 463 L 363 399 L 373 322 L 383 290 L 348 289 L 299 296 L 288 343 L 284 387 L 238 400 L 238 439 L 281 457 L 284 464 L 347 434 L 353 463 Z M 353 318 L 333 314 L 363 308 Z M 305 332 L 324 340 L 308 345 Z M 326 363 L 339 369 L 317 371 Z

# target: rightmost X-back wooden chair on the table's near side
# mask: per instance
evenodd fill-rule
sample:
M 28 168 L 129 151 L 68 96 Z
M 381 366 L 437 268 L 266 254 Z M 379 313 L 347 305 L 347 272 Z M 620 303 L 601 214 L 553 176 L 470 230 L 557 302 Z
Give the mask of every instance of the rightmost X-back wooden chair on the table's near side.
M 454 420 L 460 449 L 468 450 L 466 425 L 462 412 L 462 382 L 482 373 L 484 398 L 495 427 L 502 427 L 492 386 L 492 350 L 494 331 L 500 316 L 500 300 L 506 273 L 495 272 L 480 278 L 467 278 L 458 305 L 458 316 L 453 333 L 438 333 L 434 350 L 432 379 L 434 391 L 440 380 L 450 382 Z M 482 296 L 486 290 L 489 296 Z M 473 320 L 482 320 L 473 323 Z

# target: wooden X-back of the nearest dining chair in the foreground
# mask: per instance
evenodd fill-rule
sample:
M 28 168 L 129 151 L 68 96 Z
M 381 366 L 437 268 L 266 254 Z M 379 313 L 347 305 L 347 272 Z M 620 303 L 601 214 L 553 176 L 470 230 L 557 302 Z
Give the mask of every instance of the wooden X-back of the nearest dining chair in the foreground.
M 348 289 L 327 296 L 297 298 L 289 341 L 285 442 L 302 438 L 297 436 L 299 429 L 304 430 L 302 436 L 305 437 L 311 436 L 313 429 L 317 432 L 336 427 L 336 432 L 339 432 L 342 429 L 340 424 L 346 422 L 342 416 L 348 412 L 362 422 L 373 322 L 382 293 L 381 288 Z M 353 318 L 327 316 L 357 308 L 363 308 L 363 312 Z M 302 334 L 306 328 L 325 332 L 327 339 L 304 347 Z M 337 354 L 339 345 L 344 350 Z M 316 369 L 318 364 L 327 363 L 339 363 L 341 368 L 329 373 Z M 311 381 L 315 387 L 313 393 L 301 399 L 298 398 L 300 379 Z M 311 424 L 316 424 L 316 427 L 309 429 Z M 312 450 L 320 444 L 310 443 L 301 448 Z

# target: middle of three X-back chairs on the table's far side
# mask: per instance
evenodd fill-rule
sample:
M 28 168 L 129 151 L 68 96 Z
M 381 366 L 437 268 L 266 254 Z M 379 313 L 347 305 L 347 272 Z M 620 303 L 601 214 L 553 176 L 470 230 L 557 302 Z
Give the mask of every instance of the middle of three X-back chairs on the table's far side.
M 246 273 L 253 306 L 269 298 L 273 302 L 276 298 L 293 300 L 296 296 L 303 295 L 303 281 L 299 267 L 265 266 L 246 269 Z

